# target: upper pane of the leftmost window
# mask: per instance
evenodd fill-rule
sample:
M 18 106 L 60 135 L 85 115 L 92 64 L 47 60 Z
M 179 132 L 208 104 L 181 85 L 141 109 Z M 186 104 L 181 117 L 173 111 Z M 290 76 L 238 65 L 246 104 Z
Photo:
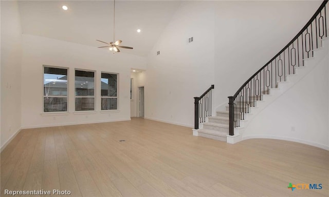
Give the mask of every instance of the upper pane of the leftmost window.
M 67 69 L 44 67 L 44 96 L 67 96 Z

